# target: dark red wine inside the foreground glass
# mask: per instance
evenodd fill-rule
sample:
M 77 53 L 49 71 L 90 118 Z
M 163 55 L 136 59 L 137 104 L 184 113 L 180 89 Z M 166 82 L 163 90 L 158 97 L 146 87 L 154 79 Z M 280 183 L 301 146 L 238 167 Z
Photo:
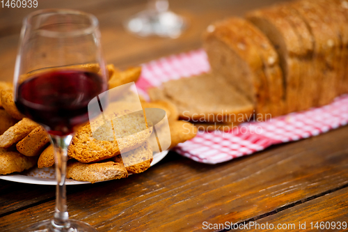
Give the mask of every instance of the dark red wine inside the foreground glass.
M 88 103 L 106 90 L 106 82 L 95 72 L 42 72 L 19 85 L 15 104 L 49 134 L 64 136 L 88 121 Z

